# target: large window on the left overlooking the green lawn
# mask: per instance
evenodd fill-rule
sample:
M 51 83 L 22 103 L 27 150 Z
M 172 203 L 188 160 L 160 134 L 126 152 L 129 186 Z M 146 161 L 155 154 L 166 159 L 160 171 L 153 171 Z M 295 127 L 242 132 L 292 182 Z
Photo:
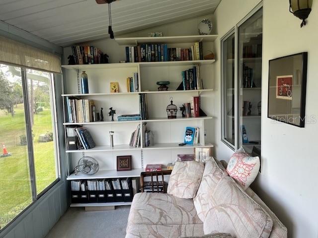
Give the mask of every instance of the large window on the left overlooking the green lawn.
M 51 73 L 0 64 L 0 229 L 59 179 L 53 88 Z

